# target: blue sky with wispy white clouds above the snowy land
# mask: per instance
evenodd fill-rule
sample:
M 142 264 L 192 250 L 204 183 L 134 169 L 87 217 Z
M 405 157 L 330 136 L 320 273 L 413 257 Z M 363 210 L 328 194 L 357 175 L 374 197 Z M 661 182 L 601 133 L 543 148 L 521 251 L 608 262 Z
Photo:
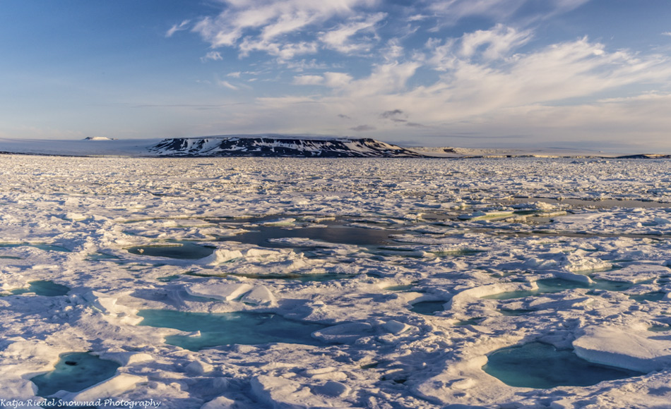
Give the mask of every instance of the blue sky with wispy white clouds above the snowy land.
M 668 0 L 3 0 L 0 138 L 671 152 Z

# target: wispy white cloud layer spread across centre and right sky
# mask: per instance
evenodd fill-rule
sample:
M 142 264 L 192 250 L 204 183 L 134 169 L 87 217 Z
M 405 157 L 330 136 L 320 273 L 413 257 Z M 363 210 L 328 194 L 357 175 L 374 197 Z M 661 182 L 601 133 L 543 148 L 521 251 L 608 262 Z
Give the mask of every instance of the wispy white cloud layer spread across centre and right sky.
M 225 0 L 166 35 L 200 36 L 210 47 L 203 62 L 256 67 L 218 80 L 255 95 L 213 123 L 231 132 L 523 135 L 553 145 L 624 143 L 639 132 L 660 142 L 670 125 L 654 109 L 670 100 L 665 54 L 582 33 L 539 37 L 542 23 L 587 2 Z M 463 25 L 475 17 L 489 23 Z

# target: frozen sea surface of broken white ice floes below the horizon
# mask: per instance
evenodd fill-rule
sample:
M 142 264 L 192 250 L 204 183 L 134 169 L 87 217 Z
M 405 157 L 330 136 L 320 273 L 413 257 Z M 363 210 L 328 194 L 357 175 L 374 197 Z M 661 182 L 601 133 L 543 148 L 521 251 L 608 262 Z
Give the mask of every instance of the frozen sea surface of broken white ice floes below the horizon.
M 30 379 L 88 353 L 119 367 L 49 392 L 196 409 L 671 402 L 671 161 L 0 161 L 0 398 L 40 399 Z M 229 313 L 278 317 L 282 337 L 251 318 L 218 329 Z M 631 376 L 524 387 L 483 369 L 539 343 Z

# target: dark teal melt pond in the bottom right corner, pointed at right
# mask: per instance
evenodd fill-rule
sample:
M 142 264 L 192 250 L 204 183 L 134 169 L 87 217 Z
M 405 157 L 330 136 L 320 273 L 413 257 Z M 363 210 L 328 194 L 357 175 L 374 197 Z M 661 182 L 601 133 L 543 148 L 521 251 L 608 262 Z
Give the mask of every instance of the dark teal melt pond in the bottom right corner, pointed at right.
M 506 385 L 535 389 L 590 386 L 642 374 L 593 364 L 569 350 L 557 350 L 540 342 L 494 351 L 487 356 L 487 365 L 482 370 Z

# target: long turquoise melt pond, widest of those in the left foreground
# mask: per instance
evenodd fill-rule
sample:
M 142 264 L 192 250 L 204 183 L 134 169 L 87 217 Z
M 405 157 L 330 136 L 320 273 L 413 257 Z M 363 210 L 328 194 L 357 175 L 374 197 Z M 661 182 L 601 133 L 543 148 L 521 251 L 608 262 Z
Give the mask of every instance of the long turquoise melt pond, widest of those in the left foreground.
M 174 328 L 180 331 L 200 331 L 200 335 L 171 335 L 165 343 L 188 350 L 201 350 L 229 344 L 257 345 L 263 343 L 301 343 L 322 345 L 312 338 L 314 331 L 326 326 L 297 322 L 280 315 L 257 312 L 225 312 L 207 314 L 172 310 L 141 310 L 139 325 Z

